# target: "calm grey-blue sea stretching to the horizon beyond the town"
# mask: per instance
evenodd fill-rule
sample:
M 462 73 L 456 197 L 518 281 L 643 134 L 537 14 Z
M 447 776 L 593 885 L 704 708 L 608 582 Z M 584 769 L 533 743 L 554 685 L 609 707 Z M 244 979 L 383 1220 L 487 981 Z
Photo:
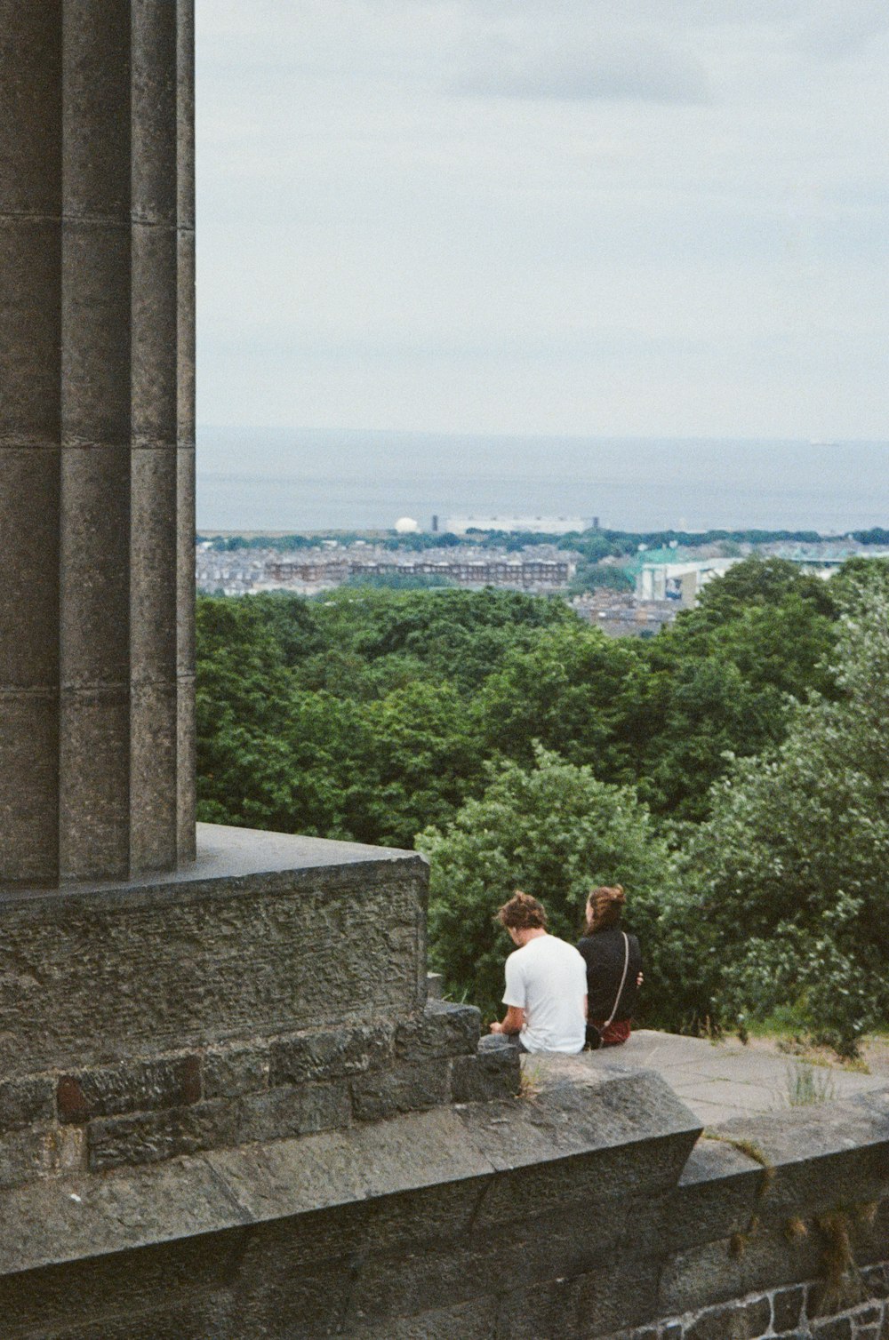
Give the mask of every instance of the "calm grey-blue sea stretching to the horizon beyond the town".
M 889 525 L 889 442 L 449 437 L 202 427 L 202 531 L 571 516 L 622 531 Z

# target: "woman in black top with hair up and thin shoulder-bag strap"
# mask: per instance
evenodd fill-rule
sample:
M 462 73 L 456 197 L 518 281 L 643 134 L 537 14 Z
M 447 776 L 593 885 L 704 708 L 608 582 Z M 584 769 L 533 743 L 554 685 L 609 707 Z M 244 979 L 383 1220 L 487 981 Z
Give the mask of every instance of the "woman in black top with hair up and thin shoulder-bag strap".
M 621 989 L 626 959 L 626 943 L 621 931 L 625 902 L 619 884 L 594 888 L 586 900 L 586 935 L 578 942 L 578 949 L 586 962 L 587 1022 L 593 1025 L 587 1029 L 587 1037 L 593 1047 L 617 1047 L 628 1040 L 642 982 L 640 942 L 636 935 L 628 935 L 629 963 Z M 595 1041 L 597 1033 L 601 1041 Z

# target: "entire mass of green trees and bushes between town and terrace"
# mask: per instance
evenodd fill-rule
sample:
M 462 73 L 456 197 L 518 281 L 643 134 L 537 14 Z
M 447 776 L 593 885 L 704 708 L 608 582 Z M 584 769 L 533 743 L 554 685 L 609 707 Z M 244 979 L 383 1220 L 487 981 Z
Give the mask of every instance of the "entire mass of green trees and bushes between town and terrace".
M 485 1010 L 512 888 L 570 937 L 619 882 L 648 1022 L 854 1049 L 889 1016 L 888 572 L 748 559 L 648 641 L 495 590 L 201 598 L 198 815 L 426 852 L 432 959 Z

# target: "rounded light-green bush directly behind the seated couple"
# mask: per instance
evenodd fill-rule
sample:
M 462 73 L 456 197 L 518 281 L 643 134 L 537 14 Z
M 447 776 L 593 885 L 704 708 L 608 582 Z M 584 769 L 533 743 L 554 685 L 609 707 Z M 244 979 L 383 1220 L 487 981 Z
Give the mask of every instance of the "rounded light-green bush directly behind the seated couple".
M 511 946 L 492 915 L 515 888 L 539 898 L 551 930 L 575 941 L 590 887 L 628 890 L 628 929 L 652 959 L 666 850 L 632 788 L 609 787 L 543 749 L 531 769 L 491 769 L 484 796 L 468 800 L 445 829 L 428 828 L 417 847 L 432 864 L 430 962 L 451 992 L 487 1014 L 503 994 Z M 652 961 L 650 990 L 662 969 Z

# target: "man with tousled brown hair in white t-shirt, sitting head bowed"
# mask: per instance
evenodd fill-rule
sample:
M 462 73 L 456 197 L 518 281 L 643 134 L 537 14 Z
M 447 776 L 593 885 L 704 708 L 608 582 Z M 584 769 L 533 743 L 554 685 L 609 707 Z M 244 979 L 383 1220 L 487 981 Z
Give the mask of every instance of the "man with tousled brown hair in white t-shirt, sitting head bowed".
M 508 1006 L 492 1033 L 523 1052 L 581 1052 L 586 1041 L 586 963 L 574 945 L 546 929 L 536 898 L 516 892 L 497 913 L 515 951 L 506 963 Z

